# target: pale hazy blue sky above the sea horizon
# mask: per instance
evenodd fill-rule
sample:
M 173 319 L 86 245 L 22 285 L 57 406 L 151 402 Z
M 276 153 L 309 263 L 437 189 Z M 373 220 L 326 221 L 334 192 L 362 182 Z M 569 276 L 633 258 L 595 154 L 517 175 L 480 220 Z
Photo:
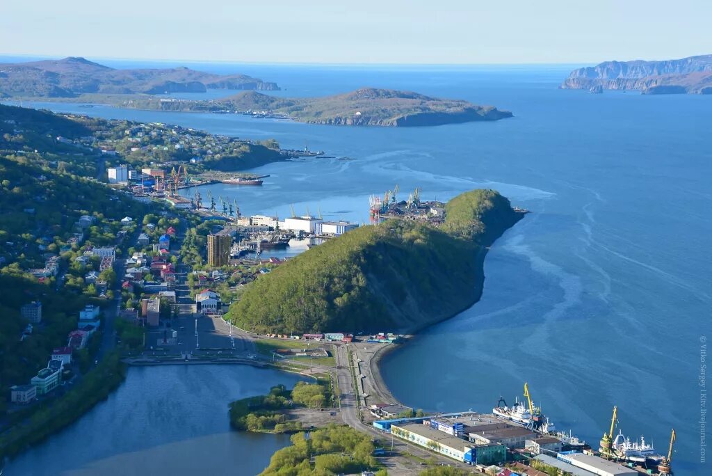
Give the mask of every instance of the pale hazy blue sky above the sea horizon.
M 712 0 L 0 0 L 0 54 L 597 63 L 712 53 Z

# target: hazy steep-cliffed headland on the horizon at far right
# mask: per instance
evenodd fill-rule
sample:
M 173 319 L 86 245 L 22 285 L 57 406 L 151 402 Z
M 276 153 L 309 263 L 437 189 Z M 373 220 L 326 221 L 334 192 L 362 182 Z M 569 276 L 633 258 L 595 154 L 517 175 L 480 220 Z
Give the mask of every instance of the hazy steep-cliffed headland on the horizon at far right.
M 572 71 L 562 89 L 638 90 L 643 94 L 712 94 L 712 55 L 666 61 L 606 61 Z

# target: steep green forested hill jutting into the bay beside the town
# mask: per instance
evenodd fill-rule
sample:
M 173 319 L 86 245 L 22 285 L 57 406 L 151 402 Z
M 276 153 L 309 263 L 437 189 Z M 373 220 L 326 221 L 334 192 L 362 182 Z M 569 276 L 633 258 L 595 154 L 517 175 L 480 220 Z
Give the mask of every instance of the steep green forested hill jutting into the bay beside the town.
M 449 202 L 439 229 L 360 227 L 249 284 L 227 317 L 261 332 L 417 330 L 479 299 L 486 247 L 522 216 L 498 192 L 473 190 Z

